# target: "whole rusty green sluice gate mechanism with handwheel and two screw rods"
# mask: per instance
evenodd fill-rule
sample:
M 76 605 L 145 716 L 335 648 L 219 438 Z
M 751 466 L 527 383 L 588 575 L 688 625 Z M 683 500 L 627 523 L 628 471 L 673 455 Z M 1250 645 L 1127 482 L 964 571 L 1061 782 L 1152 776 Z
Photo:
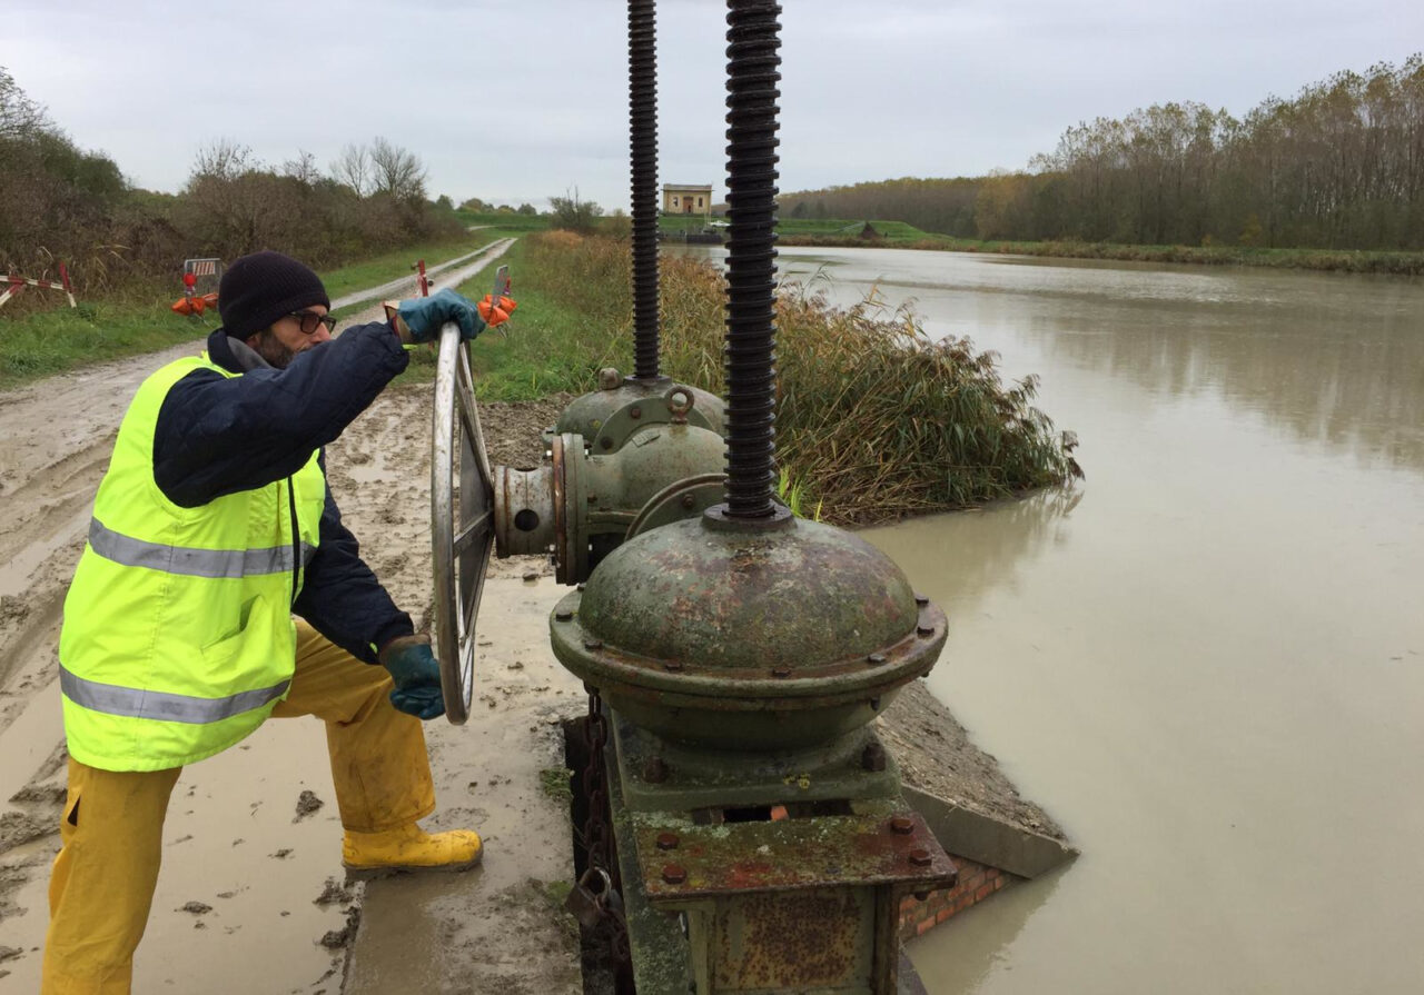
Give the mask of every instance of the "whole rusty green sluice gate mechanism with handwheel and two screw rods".
M 463 722 L 491 549 L 553 551 L 580 585 L 553 649 L 590 692 L 567 907 L 605 944 L 612 989 L 889 995 L 900 902 L 956 868 L 870 723 L 947 626 L 884 554 L 776 501 L 780 7 L 728 10 L 726 407 L 658 369 L 654 0 L 631 0 L 634 374 L 570 406 L 544 465 L 491 471 L 466 347 L 443 333 L 446 702 Z

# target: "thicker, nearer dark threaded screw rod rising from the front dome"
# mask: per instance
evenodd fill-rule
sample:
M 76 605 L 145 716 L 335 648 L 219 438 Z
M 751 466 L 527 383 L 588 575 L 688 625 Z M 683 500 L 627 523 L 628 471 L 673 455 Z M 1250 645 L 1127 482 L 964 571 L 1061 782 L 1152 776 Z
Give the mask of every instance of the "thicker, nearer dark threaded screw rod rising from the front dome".
M 726 515 L 775 514 L 776 84 L 782 7 L 728 0 Z

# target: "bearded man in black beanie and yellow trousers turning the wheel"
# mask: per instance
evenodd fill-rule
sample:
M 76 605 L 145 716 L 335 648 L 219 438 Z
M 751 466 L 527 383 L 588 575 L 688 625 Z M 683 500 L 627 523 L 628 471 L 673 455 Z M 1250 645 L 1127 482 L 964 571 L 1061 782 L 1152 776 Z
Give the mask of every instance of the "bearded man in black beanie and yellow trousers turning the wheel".
M 326 722 L 352 871 L 481 856 L 473 831 L 417 824 L 440 669 L 342 525 L 322 447 L 406 369 L 403 343 L 484 322 L 441 290 L 332 339 L 320 279 L 278 252 L 234 262 L 218 309 L 208 350 L 150 376 L 124 416 L 64 604 L 44 995 L 130 991 L 179 770 L 269 715 Z

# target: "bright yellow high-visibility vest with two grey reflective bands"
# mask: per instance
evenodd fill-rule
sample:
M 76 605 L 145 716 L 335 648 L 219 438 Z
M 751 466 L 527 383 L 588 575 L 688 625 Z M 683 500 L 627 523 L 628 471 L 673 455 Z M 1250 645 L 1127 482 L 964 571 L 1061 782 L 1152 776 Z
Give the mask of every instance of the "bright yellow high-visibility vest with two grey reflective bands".
M 60 689 L 70 754 L 162 770 L 219 753 L 286 696 L 292 604 L 318 547 L 326 480 L 313 451 L 266 487 L 184 508 L 154 481 L 168 390 L 206 353 L 150 376 L 130 404 L 64 601 Z

